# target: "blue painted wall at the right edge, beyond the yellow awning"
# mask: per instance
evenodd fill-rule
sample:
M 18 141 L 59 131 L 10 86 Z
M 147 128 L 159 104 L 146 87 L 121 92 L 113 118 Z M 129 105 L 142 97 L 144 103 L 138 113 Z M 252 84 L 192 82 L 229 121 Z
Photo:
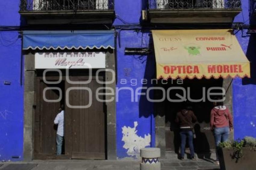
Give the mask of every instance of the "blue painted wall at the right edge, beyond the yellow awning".
M 255 18 L 250 17 L 249 4 L 251 0 L 242 1 L 242 13 L 234 22 L 245 24 L 254 23 Z M 245 136 L 256 137 L 256 37 L 248 36 L 248 30 L 239 31 L 236 37 L 251 62 L 251 78 L 236 78 L 233 80 L 233 115 L 234 115 L 234 137 L 235 139 Z M 243 36 L 243 37 L 242 37 Z

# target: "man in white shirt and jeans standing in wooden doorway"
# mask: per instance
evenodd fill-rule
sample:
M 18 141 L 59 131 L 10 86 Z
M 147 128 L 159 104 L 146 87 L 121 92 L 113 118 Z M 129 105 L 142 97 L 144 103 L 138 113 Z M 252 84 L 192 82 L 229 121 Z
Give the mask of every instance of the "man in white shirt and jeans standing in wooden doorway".
M 54 120 L 54 124 L 58 124 L 57 130 L 57 155 L 61 155 L 62 141 L 64 136 L 64 109 L 63 105 L 59 108 L 60 113 L 57 114 Z

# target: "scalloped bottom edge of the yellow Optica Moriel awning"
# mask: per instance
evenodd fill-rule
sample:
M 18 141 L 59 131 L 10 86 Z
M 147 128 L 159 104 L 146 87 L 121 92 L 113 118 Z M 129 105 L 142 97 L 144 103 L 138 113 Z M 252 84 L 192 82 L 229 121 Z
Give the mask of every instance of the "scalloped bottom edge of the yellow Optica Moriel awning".
M 231 77 L 231 78 L 235 78 L 235 77 L 239 77 L 239 78 L 245 78 L 245 77 L 248 77 L 248 78 L 251 78 L 250 76 L 248 76 L 247 74 L 243 75 L 243 76 L 240 76 L 238 74 L 234 75 L 234 76 L 231 76 L 230 74 L 227 74 L 226 76 L 222 76 L 222 75 L 219 75 L 219 76 L 214 76 L 214 75 L 211 75 L 211 76 L 205 76 L 205 75 L 202 75 L 202 76 L 197 76 L 197 75 L 194 75 L 194 76 L 183 76 L 183 77 L 180 77 L 180 76 L 176 76 L 176 77 L 171 77 L 171 76 L 168 76 L 168 77 L 164 77 L 164 76 L 159 76 L 158 79 L 164 79 L 164 80 L 167 80 L 167 79 L 173 79 L 173 80 L 176 80 L 178 78 L 180 79 L 185 79 L 185 78 L 188 78 L 188 79 L 194 79 L 194 78 L 197 78 L 197 79 L 202 79 L 202 78 L 206 78 L 206 79 L 210 79 L 210 78 L 214 78 L 214 79 L 218 79 L 218 78 L 227 78 L 227 77 Z

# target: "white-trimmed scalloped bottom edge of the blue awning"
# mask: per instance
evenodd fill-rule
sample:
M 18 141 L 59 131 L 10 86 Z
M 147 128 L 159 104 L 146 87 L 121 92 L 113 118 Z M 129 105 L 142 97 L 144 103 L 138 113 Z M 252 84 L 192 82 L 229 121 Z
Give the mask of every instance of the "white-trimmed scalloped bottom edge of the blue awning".
M 86 46 L 86 47 L 82 47 L 82 46 L 79 46 L 79 47 L 75 47 L 75 46 L 72 46 L 72 47 L 67 47 L 67 46 L 60 47 L 60 46 L 58 46 L 56 48 L 54 48 L 52 46 L 50 46 L 50 47 L 43 46 L 42 48 L 40 48 L 38 46 L 36 46 L 36 47 L 29 46 L 27 48 L 23 48 L 23 50 L 29 50 L 29 49 L 32 49 L 32 50 L 36 50 L 36 49 L 39 49 L 39 50 L 44 50 L 44 49 L 45 50 L 50 50 L 50 49 L 53 49 L 53 50 L 58 50 L 58 49 L 61 49 L 61 50 L 64 50 L 64 49 L 68 49 L 68 50 L 72 50 L 72 49 L 76 49 L 76 50 L 79 50 L 79 49 L 83 49 L 83 50 L 91 49 L 92 50 L 92 49 L 95 49 L 95 48 L 96 49 L 101 49 L 101 48 L 104 48 L 104 49 L 108 49 L 108 48 L 115 49 L 111 45 L 108 45 L 107 47 L 101 45 L 100 47 L 97 47 L 97 46 L 93 46 L 93 47 L 90 47 L 90 46 Z

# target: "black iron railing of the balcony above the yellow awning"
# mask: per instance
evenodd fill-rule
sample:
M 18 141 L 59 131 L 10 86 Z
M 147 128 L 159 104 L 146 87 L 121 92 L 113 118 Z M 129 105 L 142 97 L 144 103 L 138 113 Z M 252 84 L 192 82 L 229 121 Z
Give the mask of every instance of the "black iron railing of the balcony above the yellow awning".
M 149 9 L 240 9 L 241 0 L 148 0 Z

